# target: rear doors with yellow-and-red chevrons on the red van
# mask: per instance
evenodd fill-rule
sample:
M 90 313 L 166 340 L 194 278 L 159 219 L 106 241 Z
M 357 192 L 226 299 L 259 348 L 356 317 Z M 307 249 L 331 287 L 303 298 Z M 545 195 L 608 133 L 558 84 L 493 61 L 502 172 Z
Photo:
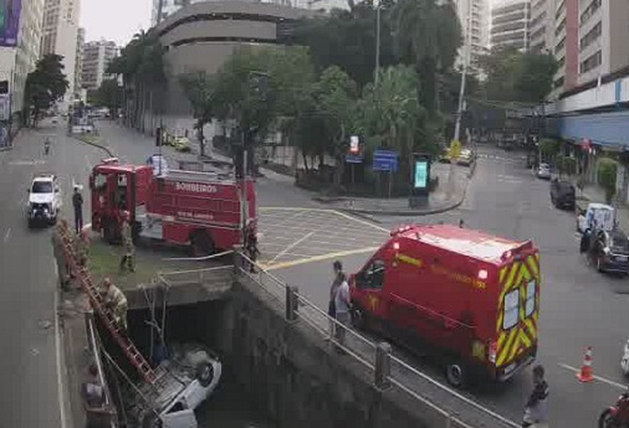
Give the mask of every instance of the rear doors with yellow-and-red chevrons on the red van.
M 537 349 L 540 295 L 539 253 L 530 250 L 499 270 L 495 366 L 506 377 Z

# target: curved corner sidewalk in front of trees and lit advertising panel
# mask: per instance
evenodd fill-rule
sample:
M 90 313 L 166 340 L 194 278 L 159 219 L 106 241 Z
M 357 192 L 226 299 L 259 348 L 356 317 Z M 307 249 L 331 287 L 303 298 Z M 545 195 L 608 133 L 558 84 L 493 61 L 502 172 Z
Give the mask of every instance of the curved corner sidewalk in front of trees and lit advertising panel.
M 408 197 L 396 197 L 391 199 L 378 199 L 369 197 L 323 197 L 313 199 L 321 202 L 331 209 L 339 209 L 354 214 L 375 214 L 382 216 L 425 216 L 439 214 L 455 209 L 463 203 L 467 183 L 474 174 L 475 166 L 471 168 L 455 166 L 455 190 L 452 195 L 447 195 L 448 175 L 450 166 L 443 163 L 434 163 L 431 170 L 432 177 L 439 178 L 437 189 L 429 195 L 426 207 L 409 207 Z

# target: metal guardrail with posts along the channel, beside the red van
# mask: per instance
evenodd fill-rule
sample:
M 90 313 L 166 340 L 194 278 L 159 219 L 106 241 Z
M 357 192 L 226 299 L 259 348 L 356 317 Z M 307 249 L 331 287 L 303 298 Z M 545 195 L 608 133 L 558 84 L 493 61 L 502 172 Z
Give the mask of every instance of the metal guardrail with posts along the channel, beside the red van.
M 283 303 L 287 320 L 303 321 L 317 331 L 322 339 L 329 340 L 336 347 L 343 349 L 346 354 L 373 372 L 377 387 L 392 386 L 419 400 L 433 412 L 431 416 L 443 420 L 444 427 L 521 427 L 520 424 L 422 373 L 390 352 L 383 357 L 382 349 L 386 347 L 383 348 L 382 345 L 388 346 L 387 344 L 376 344 L 352 328 L 346 328 L 345 340 L 339 342 L 331 334 L 332 326 L 334 329 L 344 328 L 339 321 L 300 294 L 296 287 L 285 284 L 242 252 L 234 253 L 234 270 L 237 274 L 249 277 L 263 291 Z

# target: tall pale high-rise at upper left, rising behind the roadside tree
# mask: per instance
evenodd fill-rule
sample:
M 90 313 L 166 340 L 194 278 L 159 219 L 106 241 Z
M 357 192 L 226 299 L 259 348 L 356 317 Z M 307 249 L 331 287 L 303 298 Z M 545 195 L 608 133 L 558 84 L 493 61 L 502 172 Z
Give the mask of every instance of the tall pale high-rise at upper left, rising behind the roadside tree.
M 63 57 L 64 73 L 69 87 L 64 101 L 74 99 L 74 70 L 77 65 L 80 0 L 45 0 L 40 54 Z M 62 106 L 64 110 L 65 107 Z

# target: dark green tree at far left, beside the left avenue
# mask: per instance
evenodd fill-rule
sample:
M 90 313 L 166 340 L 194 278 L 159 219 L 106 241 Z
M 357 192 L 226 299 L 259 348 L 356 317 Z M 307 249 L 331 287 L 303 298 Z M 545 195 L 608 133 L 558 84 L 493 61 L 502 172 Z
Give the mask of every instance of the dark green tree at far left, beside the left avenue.
M 41 113 L 52 107 L 67 91 L 69 83 L 63 73 L 62 59 L 60 55 L 47 54 L 26 77 L 24 98 L 27 112 L 24 120 L 33 127 L 37 126 Z

